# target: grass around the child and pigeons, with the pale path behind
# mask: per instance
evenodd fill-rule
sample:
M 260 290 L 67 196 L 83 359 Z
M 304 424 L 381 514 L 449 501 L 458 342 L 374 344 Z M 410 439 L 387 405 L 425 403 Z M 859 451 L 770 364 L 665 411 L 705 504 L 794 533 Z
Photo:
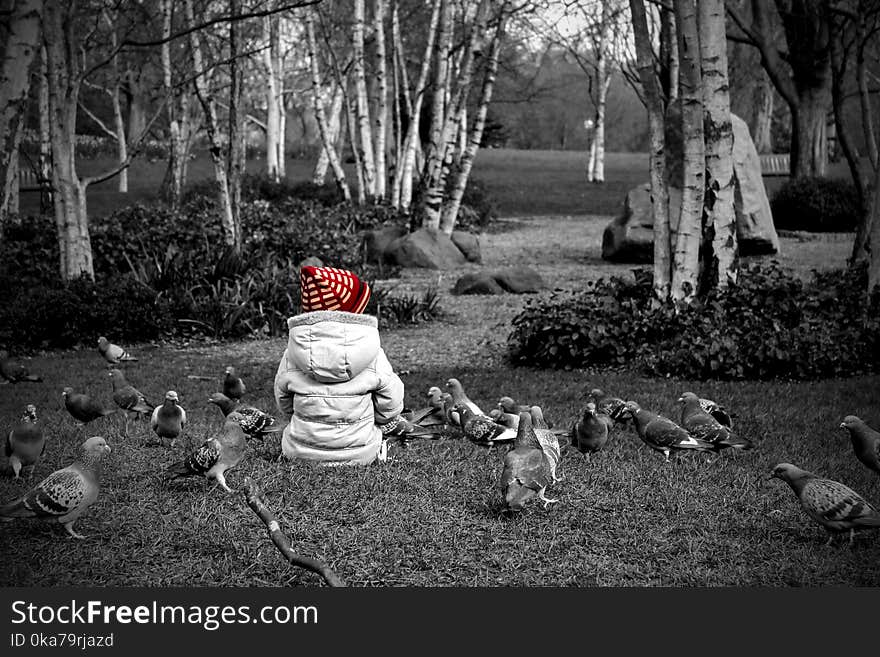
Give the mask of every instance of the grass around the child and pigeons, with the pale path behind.
M 505 230 L 483 238 L 485 264 L 528 264 L 569 289 L 626 273 L 626 266 L 599 258 L 597 238 L 607 219 L 508 219 Z M 806 271 L 841 266 L 849 243 L 784 238 L 782 246 L 783 262 Z M 880 377 L 699 384 L 631 372 L 511 368 L 503 346 L 524 298 L 453 297 L 455 274 L 410 270 L 395 283 L 403 289 L 439 283 L 446 311 L 437 323 L 383 332 L 409 406 L 420 405 L 428 386 L 456 376 L 484 407 L 509 394 L 540 404 L 556 426 L 567 427 L 585 388 L 598 385 L 673 417 L 674 400 L 690 389 L 736 412 L 737 429 L 759 448 L 711 464 L 683 456 L 665 465 L 631 430 L 618 429 L 590 463 L 576 451 L 565 453 L 565 479 L 550 491 L 559 504 L 546 511 L 531 505 L 508 518 L 495 488 L 498 450 L 457 440 L 414 442 L 392 448 L 393 461 L 385 465 L 349 469 L 278 463 L 277 444 L 254 443 L 227 479 L 236 487 L 251 476 L 264 488 L 295 549 L 325 560 L 358 586 L 880 585 L 878 532 L 858 536 L 851 550 L 825 548 L 824 531 L 800 510 L 788 486 L 767 480 L 773 465 L 788 461 L 880 501 L 880 481 L 855 460 L 837 428 L 849 413 L 880 425 Z M 98 502 L 77 524 L 89 538 L 68 539 L 57 525 L 2 525 L 0 584 L 319 584 L 282 559 L 240 495 L 211 490 L 204 480 L 160 481 L 185 447 L 221 426 L 207 397 L 219 389 L 226 365 L 236 365 L 245 378 L 248 402 L 272 409 L 284 345 L 281 339 L 131 345 L 141 357 L 126 368 L 131 382 L 154 402 L 176 390 L 188 411 L 186 439 L 174 450 L 153 446 L 146 422 L 133 423 L 127 434 L 121 418 L 95 422 L 87 432 L 74 426 L 63 408 L 64 386 L 110 401 L 96 350 L 31 359 L 31 371 L 45 383 L 0 388 L 0 431 L 8 431 L 25 404 L 37 405 L 50 443 L 35 480 L 68 464 L 86 436 L 105 436 L 114 451 Z M 0 500 L 24 489 L 24 482 L 2 478 Z

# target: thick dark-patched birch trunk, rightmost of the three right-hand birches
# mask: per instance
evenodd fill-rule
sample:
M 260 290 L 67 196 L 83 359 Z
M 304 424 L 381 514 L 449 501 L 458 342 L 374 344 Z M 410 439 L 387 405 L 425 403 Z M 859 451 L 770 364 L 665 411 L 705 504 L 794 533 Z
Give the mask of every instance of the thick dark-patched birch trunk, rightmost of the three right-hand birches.
M 724 0 L 700 0 L 698 26 L 706 151 L 707 282 L 719 288 L 737 276 L 736 213 L 733 208 L 733 125 L 727 78 Z

